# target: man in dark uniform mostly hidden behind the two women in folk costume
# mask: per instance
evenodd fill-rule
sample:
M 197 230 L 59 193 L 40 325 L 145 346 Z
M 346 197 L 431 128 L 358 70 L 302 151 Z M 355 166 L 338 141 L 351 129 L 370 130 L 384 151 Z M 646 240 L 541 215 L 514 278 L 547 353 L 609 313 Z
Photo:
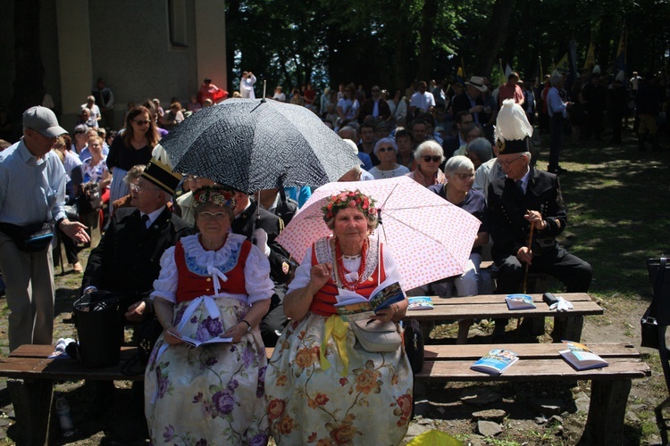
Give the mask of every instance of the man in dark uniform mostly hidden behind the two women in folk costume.
M 266 347 L 273 347 L 277 343 L 281 330 L 289 323 L 284 314 L 282 301 L 287 290 L 287 282 L 291 277 L 291 262 L 289 253 L 275 242 L 284 228 L 283 221 L 263 208 L 258 208 L 256 202 L 249 199 L 249 195 L 235 191 L 235 219 L 232 222 L 232 232 L 244 235 L 247 240 L 265 252 L 270 260 L 270 277 L 274 282 L 274 294 L 270 303 L 270 310 L 261 321 L 261 335 Z

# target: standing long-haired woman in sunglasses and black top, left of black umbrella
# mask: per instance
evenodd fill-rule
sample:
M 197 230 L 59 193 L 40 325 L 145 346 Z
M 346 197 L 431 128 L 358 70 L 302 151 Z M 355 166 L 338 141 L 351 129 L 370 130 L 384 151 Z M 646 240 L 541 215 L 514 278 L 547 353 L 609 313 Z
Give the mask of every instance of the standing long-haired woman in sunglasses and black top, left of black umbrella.
M 111 202 L 130 193 L 123 178 L 133 166 L 147 164 L 151 160 L 151 153 L 158 144 L 158 139 L 155 121 L 150 118 L 147 107 L 140 105 L 131 109 L 126 115 L 123 134 L 114 138 L 107 155 L 107 169 L 113 175 L 110 186 Z M 112 213 L 113 209 L 110 208 L 110 215 Z

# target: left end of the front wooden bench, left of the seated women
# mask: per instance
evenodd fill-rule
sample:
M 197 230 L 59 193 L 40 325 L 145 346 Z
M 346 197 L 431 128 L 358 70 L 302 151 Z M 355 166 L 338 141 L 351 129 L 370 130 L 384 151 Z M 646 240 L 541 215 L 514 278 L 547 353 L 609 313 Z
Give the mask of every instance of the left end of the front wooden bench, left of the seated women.
M 110 368 L 84 368 L 76 359 L 47 359 L 53 345 L 21 345 L 9 358 L 0 358 L 0 376 L 7 389 L 25 444 L 48 444 L 49 434 L 58 429 L 53 416 L 54 382 L 142 381 L 144 375 L 128 376 L 121 368 L 137 353 L 137 347 L 121 347 L 121 360 Z

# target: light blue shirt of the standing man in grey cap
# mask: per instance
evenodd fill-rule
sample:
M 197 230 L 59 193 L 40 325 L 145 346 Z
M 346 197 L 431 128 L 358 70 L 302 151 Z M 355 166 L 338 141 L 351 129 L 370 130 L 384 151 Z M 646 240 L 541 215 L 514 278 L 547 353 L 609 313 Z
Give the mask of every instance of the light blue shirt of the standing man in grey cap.
M 25 226 L 65 218 L 65 168 L 54 153 L 38 160 L 23 139 L 0 152 L 0 222 Z

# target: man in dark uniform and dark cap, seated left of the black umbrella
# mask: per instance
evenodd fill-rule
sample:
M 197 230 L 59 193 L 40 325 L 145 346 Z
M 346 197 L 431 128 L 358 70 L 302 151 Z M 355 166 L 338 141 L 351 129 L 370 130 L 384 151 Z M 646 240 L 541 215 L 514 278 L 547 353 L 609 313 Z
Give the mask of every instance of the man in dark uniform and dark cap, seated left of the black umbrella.
M 114 212 L 100 244 L 88 257 L 82 293 L 97 289 L 122 293 L 119 310 L 131 322 L 153 312 L 148 297 L 161 270 L 163 252 L 193 232 L 166 206 L 180 178 L 160 161 L 150 161 L 138 185 L 130 187 L 131 204 L 136 207 Z

